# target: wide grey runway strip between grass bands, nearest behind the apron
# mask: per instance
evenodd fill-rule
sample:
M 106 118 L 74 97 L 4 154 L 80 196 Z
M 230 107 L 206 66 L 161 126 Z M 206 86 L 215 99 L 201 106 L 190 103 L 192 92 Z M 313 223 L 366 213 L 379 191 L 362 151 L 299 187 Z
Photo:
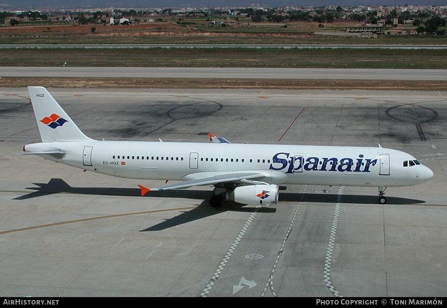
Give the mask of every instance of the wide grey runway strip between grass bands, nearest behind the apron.
M 123 78 L 260 78 L 446 80 L 447 70 L 212 68 L 212 67 L 0 67 L 0 77 L 123 77 Z

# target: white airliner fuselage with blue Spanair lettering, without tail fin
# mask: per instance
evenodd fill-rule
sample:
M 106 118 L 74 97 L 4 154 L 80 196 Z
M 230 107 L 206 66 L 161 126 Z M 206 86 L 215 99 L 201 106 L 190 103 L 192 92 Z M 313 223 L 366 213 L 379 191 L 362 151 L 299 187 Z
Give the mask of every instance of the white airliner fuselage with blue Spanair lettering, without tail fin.
M 88 141 L 31 144 L 26 152 L 58 149 L 46 158 L 102 174 L 143 180 L 194 180 L 210 173 L 265 174 L 269 184 L 393 187 L 428 181 L 433 172 L 415 158 L 385 148 Z M 200 176 L 199 176 L 200 174 Z

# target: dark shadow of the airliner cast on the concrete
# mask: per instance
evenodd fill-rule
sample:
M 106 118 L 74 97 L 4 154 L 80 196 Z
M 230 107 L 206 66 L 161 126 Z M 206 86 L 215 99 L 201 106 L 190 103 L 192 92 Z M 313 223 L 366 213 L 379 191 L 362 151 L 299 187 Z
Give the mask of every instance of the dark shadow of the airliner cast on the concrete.
M 37 198 L 52 194 L 59 193 L 71 193 L 71 194 L 82 194 L 82 195 L 105 195 L 105 196 L 129 196 L 129 197 L 139 197 L 140 189 L 138 188 L 105 188 L 105 187 L 71 187 L 62 179 L 50 179 L 48 183 L 33 183 L 38 187 L 29 187 L 27 189 L 35 190 L 32 193 L 14 198 L 14 200 L 26 200 L 31 198 Z M 165 221 L 151 226 L 147 229 L 141 231 L 159 231 L 167 229 L 179 224 L 184 224 L 194 220 L 198 220 L 204 217 L 212 216 L 217 213 L 226 211 L 240 211 L 240 212 L 252 212 L 253 207 L 244 207 L 247 205 L 241 205 L 234 202 L 224 202 L 221 207 L 214 208 L 208 203 L 210 197 L 210 191 L 202 190 L 165 190 L 165 191 L 154 191 L 149 192 L 145 197 L 159 197 L 159 198 L 184 198 L 184 199 L 203 199 L 204 201 L 198 205 L 196 208 L 184 211 L 182 214 L 166 219 Z M 422 204 L 425 201 L 398 198 L 398 197 L 387 197 L 388 203 L 393 205 L 407 205 L 407 204 Z M 300 193 L 285 193 L 281 192 L 279 197 L 279 202 L 310 202 L 310 203 L 337 203 L 337 194 L 300 194 Z M 342 203 L 352 203 L 352 204 L 377 204 L 377 196 L 365 196 L 365 195 L 343 195 Z M 281 206 L 281 205 L 279 205 Z M 276 212 L 275 207 L 262 206 L 258 208 L 258 212 L 264 213 L 274 213 Z

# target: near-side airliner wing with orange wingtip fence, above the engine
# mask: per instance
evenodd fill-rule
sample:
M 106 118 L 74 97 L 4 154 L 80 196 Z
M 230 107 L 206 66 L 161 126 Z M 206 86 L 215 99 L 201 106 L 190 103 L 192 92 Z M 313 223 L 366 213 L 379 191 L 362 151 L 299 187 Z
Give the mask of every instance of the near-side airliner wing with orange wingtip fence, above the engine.
M 179 189 L 179 188 L 188 188 L 192 186 L 200 186 L 200 185 L 213 185 L 218 183 L 230 183 L 230 182 L 242 182 L 242 181 L 257 181 L 262 178 L 265 178 L 265 174 L 258 172 L 245 172 L 245 173 L 226 173 L 226 174 L 217 174 L 214 176 L 209 176 L 209 173 L 206 172 L 207 176 L 199 179 L 189 180 L 185 182 L 180 182 L 177 184 L 165 185 L 161 187 L 155 187 L 148 189 L 142 185 L 138 185 L 141 188 L 141 195 L 144 196 L 149 191 L 160 191 L 167 189 Z M 195 174 L 197 177 L 198 174 Z

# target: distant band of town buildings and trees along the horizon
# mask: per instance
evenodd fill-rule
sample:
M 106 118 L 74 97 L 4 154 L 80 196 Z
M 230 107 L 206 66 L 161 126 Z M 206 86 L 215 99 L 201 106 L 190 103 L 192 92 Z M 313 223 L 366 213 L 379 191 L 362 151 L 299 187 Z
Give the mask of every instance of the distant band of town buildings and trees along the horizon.
M 0 4 L 1 5 L 1 4 Z M 447 5 L 404 6 L 325 6 L 303 7 L 174 7 L 174 8 L 114 8 L 95 9 L 42 9 L 8 11 L 0 7 L 0 22 L 14 26 L 29 22 L 59 22 L 78 24 L 122 25 L 145 22 L 173 22 L 174 18 L 207 18 L 214 26 L 239 26 L 239 18 L 251 18 L 251 22 L 287 23 L 293 21 L 324 23 L 335 20 L 355 20 L 358 27 L 346 28 L 347 33 L 360 35 L 382 34 L 445 34 L 438 27 L 446 26 Z M 180 19 L 178 19 L 180 20 Z M 399 29 L 405 26 L 405 29 Z M 413 27 L 413 28 L 411 28 Z M 397 28 L 387 30 L 386 28 Z

